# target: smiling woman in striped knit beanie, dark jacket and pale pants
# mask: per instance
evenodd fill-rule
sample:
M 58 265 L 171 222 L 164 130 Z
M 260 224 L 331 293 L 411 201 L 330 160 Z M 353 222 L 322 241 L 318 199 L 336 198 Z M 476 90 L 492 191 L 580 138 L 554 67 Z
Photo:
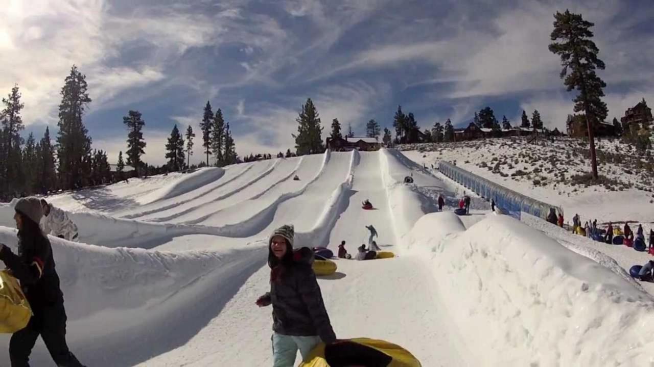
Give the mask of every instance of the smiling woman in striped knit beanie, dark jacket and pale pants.
M 283 225 L 270 236 L 270 292 L 256 300 L 273 305 L 273 367 L 292 367 L 298 349 L 302 359 L 321 341 L 336 342 L 320 286 L 311 268 L 313 251 L 293 250 L 294 228 Z

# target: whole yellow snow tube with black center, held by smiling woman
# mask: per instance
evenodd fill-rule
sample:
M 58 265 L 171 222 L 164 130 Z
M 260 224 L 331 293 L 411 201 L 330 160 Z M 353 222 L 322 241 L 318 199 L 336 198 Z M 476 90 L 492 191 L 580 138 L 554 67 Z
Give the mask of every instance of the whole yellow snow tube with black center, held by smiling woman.
M 409 351 L 384 340 L 354 338 L 325 346 L 318 344 L 300 367 L 421 367 Z

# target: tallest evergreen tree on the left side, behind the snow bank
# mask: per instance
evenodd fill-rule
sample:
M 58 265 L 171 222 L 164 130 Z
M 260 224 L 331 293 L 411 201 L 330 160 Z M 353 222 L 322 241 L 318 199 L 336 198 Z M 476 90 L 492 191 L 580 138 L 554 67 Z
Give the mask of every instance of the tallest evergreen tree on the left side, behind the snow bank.
M 58 170 L 63 188 L 80 186 L 88 174 L 91 138 L 82 123 L 86 106 L 91 102 L 87 93 L 86 76 L 71 67 L 61 88 L 59 104 L 59 132 L 57 135 Z

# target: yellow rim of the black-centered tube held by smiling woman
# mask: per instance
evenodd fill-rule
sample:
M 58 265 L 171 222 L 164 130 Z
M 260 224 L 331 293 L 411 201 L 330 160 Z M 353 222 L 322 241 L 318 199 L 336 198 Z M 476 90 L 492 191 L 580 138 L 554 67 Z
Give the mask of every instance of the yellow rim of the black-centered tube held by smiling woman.
M 370 348 L 372 353 L 383 355 L 385 358 L 389 359 L 387 364 L 379 364 L 379 367 L 422 367 L 419 360 L 413 357 L 409 351 L 400 347 L 400 345 L 370 338 L 353 338 L 347 341 L 364 345 L 365 347 Z M 341 357 L 343 355 L 341 353 L 337 354 Z M 325 359 L 324 343 L 318 344 L 318 346 L 311 351 L 307 360 L 302 362 L 299 367 L 330 367 Z

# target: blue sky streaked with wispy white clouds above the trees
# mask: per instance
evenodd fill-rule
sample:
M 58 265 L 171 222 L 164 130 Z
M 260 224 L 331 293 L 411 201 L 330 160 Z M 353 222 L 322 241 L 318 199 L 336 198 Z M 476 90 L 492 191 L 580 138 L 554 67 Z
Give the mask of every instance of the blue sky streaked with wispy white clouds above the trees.
M 536 108 L 561 129 L 574 95 L 547 44 L 553 13 L 566 8 L 596 24 L 610 119 L 642 98 L 654 104 L 651 0 L 9 0 L 0 93 L 18 83 L 26 131 L 41 136 L 56 129 L 75 63 L 90 85 L 94 148 L 116 159 L 122 116 L 139 110 L 145 160 L 156 165 L 175 123 L 198 130 L 207 100 L 241 155 L 292 148 L 307 97 L 325 135 L 333 118 L 358 135 L 371 118 L 390 128 L 398 104 L 423 129 L 447 118 L 467 125 L 485 106 L 511 123 Z

